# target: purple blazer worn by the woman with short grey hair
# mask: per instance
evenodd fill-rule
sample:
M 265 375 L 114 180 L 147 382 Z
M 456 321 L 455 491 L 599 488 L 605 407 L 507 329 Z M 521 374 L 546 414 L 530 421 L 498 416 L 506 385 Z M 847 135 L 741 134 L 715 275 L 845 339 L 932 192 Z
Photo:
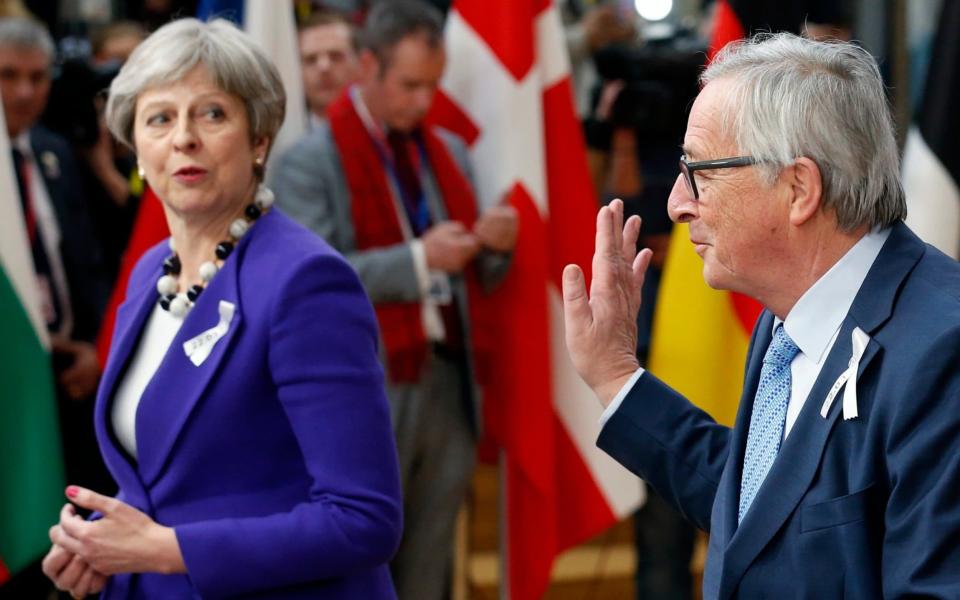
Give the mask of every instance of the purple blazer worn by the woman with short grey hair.
M 395 598 L 396 448 L 377 326 L 350 266 L 274 209 L 187 315 L 137 410 L 139 460 L 110 424 L 157 301 L 166 242 L 130 278 L 97 397 L 119 498 L 174 527 L 186 575 L 121 574 L 103 598 Z M 194 366 L 183 344 L 236 306 Z

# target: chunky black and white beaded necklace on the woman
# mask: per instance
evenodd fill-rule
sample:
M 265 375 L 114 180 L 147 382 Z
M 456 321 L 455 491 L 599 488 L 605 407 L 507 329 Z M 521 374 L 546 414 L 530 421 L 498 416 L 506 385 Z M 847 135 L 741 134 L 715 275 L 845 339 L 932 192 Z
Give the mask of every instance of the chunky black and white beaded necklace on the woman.
M 185 292 L 180 292 L 180 257 L 177 256 L 177 249 L 173 243 L 173 237 L 170 237 L 170 256 L 163 261 L 163 275 L 157 280 L 157 292 L 160 294 L 158 303 L 160 308 L 168 311 L 175 317 L 186 316 L 193 305 L 196 303 L 200 294 L 213 279 L 217 271 L 227 260 L 233 248 L 240 241 L 240 238 L 247 233 L 254 221 L 261 215 L 270 210 L 273 206 L 273 192 L 270 188 L 261 185 L 257 188 L 257 193 L 253 202 L 247 205 L 243 211 L 243 217 L 235 219 L 230 223 L 228 238 L 217 244 L 214 251 L 216 257 L 200 265 L 200 283 L 190 286 Z

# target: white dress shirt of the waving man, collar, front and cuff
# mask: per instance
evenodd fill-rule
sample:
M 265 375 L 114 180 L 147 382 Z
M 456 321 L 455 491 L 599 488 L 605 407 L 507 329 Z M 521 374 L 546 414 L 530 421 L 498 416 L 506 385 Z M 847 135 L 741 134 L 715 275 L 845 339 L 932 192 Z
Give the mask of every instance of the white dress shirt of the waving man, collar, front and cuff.
M 800 352 L 790 363 L 790 402 L 787 404 L 787 420 L 783 428 L 784 439 L 796 423 L 797 416 L 820 375 L 820 369 L 833 348 L 840 326 L 850 312 L 850 306 L 853 305 L 863 280 L 889 235 L 888 228 L 871 231 L 860 238 L 830 270 L 800 296 L 786 320 L 774 318 L 774 329 L 782 322 L 787 335 L 800 348 Z M 637 369 L 620 389 L 603 411 L 600 417 L 601 427 L 620 407 L 643 373 L 642 367 Z

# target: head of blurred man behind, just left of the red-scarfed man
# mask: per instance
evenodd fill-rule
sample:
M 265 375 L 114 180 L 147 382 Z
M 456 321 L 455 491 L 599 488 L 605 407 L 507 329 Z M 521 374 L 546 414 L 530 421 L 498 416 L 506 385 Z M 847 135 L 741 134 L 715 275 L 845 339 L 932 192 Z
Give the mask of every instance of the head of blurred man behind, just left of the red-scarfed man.
M 333 11 L 314 13 L 300 25 L 303 90 L 314 127 L 327 107 L 357 78 L 360 52 L 357 32 L 347 17 Z

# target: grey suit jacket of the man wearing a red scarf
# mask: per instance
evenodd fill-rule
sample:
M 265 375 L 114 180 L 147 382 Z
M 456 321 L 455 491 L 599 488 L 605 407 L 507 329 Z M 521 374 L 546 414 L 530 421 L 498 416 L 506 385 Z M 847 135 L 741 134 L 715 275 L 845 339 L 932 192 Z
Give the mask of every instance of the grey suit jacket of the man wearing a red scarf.
M 464 175 L 472 182 L 464 143 L 448 131 L 439 129 L 437 132 Z M 276 194 L 278 206 L 322 236 L 350 261 L 374 304 L 416 302 L 421 299 L 409 244 L 357 249 L 350 189 L 329 124 L 323 123 L 308 133 L 276 160 L 277 165 L 271 173 L 269 184 Z M 421 170 L 420 180 L 433 222 L 447 220 L 446 205 L 427 165 Z M 480 281 L 486 291 L 494 289 L 503 280 L 510 260 L 510 254 L 494 252 L 482 252 L 477 257 Z M 466 286 L 460 276 L 451 277 L 451 284 L 464 332 L 469 339 Z M 473 381 L 469 347 L 467 352 L 468 381 Z M 479 395 L 476 386 L 471 385 L 470 388 L 466 401 L 469 405 L 468 414 L 476 428 L 479 424 Z

